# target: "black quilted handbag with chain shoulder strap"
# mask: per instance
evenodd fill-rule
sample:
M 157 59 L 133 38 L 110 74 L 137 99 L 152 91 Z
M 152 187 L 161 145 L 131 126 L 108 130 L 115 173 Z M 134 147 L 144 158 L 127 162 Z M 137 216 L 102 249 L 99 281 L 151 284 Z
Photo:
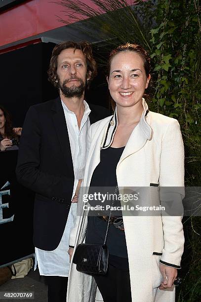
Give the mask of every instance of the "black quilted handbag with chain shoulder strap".
M 115 194 L 117 192 L 117 189 L 118 186 L 115 189 Z M 111 211 L 108 220 L 108 227 L 105 234 L 105 240 L 103 244 L 83 243 L 87 232 L 87 228 L 86 228 L 86 231 L 82 239 L 82 243 L 80 243 L 77 246 L 73 257 L 73 263 L 76 264 L 76 269 L 78 271 L 86 274 L 99 274 L 99 275 L 105 275 L 107 273 L 109 252 L 106 246 L 106 242 L 108 237 L 108 230 L 110 227 L 110 221 L 111 221 Z

